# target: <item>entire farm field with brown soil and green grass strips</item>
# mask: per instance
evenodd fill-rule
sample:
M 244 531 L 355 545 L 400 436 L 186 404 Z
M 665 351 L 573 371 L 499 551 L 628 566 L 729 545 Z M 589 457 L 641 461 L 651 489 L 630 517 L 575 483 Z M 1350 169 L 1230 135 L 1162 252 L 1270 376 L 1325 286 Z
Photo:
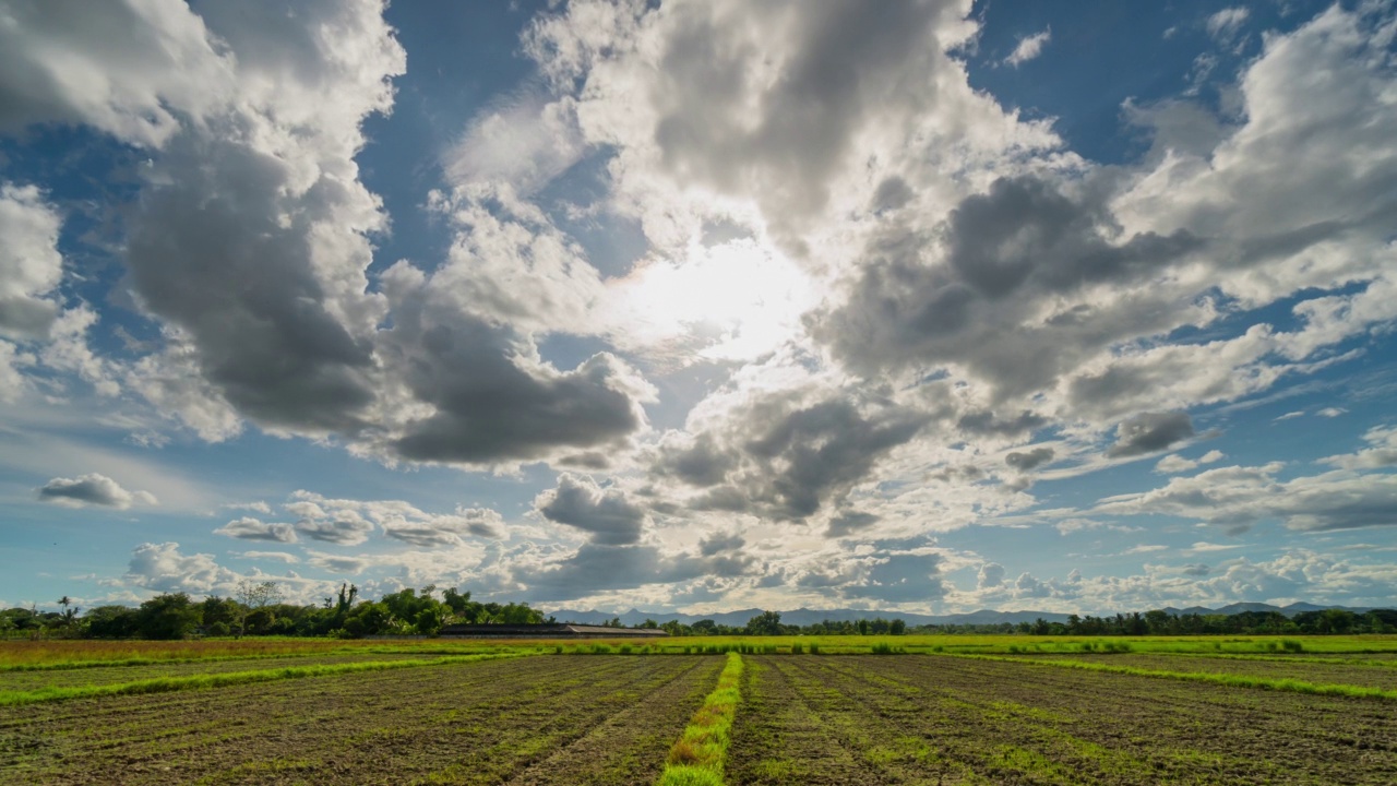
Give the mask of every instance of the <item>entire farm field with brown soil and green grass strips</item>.
M 1391 636 L 8 642 L 0 783 L 1390 785 L 1394 653 Z

